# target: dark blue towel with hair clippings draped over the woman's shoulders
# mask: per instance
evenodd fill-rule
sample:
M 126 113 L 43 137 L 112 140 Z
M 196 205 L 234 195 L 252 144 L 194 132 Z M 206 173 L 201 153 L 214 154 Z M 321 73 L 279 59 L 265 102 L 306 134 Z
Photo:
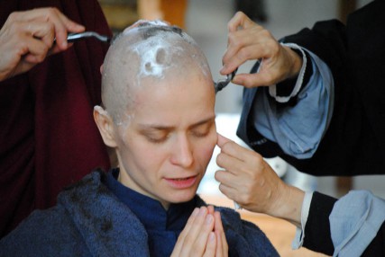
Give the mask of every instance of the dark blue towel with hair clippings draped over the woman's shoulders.
M 103 172 L 90 173 L 62 191 L 54 208 L 34 211 L 0 241 L 0 256 L 151 256 L 141 220 L 108 190 L 106 180 Z M 195 205 L 206 203 L 196 197 Z M 229 256 L 278 256 L 257 226 L 233 209 L 215 209 Z

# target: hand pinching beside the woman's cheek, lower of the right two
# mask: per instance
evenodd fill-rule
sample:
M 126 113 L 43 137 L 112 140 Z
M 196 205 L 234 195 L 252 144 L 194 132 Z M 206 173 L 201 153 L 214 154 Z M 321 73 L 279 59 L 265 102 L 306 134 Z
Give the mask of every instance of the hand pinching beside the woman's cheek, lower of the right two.
M 300 224 L 303 191 L 282 182 L 258 153 L 219 134 L 217 145 L 221 153 L 216 164 L 223 170 L 215 173 L 215 180 L 225 196 L 250 211 Z

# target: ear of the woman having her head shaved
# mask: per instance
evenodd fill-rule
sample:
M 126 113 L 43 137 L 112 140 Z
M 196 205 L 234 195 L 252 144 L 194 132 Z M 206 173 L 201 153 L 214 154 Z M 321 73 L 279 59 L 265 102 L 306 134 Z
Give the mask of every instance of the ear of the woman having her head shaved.
M 115 123 L 108 115 L 108 112 L 96 105 L 94 107 L 94 120 L 105 145 L 115 148 L 117 146 L 115 140 Z

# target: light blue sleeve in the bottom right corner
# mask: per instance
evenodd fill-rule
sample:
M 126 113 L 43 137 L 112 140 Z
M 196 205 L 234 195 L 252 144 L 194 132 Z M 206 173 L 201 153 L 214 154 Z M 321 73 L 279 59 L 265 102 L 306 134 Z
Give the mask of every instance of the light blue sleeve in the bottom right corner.
M 370 191 L 350 191 L 329 217 L 333 256 L 360 256 L 385 221 L 385 200 Z

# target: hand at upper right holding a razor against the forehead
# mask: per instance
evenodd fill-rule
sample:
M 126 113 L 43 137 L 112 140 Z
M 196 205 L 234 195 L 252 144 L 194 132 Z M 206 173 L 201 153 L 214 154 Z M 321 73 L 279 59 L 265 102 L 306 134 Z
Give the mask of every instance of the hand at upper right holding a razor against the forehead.
M 234 84 L 245 87 L 271 85 L 298 75 L 302 58 L 288 47 L 280 45 L 270 31 L 252 22 L 244 13 L 235 13 L 228 22 L 228 31 L 221 74 L 230 74 L 247 60 L 262 60 L 258 74 L 235 75 L 232 81 Z

